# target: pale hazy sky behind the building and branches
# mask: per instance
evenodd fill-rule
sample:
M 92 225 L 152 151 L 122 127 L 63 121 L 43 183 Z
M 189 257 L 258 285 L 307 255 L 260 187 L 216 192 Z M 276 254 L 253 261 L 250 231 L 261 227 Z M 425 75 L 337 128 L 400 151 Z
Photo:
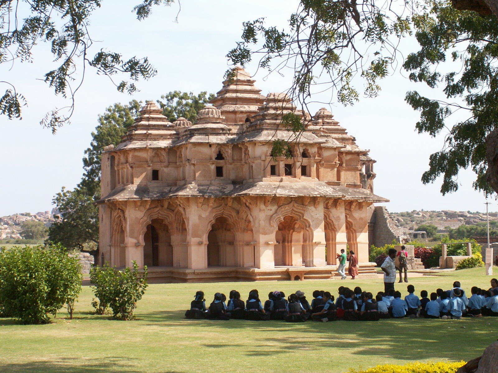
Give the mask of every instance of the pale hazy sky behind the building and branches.
M 106 48 L 126 57 L 147 56 L 158 74 L 149 81 L 138 82 L 140 92 L 130 96 L 117 92 L 107 77 L 87 70 L 76 95 L 71 124 L 59 128 L 55 135 L 39 124 L 47 111 L 65 104 L 43 82 L 44 73 L 55 66 L 49 46 L 37 45 L 32 63 L 16 61 L 13 65 L 0 65 L 1 80 L 13 83 L 28 102 L 22 120 L 0 116 L 0 216 L 51 210 L 52 198 L 61 187 L 73 188 L 80 182 L 84 151 L 90 145 L 98 115 L 106 107 L 131 99 L 156 100 L 161 94 L 175 90 L 218 92 L 229 67 L 225 56 L 240 40 L 242 22 L 265 16 L 268 25 L 283 28 L 297 7 L 295 0 L 183 0 L 181 9 L 178 3 L 155 7 L 149 18 L 138 21 L 131 12 L 138 2 L 103 1 L 102 7 L 92 15 L 90 33 L 96 40 L 92 50 L 96 53 Z M 400 60 L 403 52 L 406 56 L 416 47 L 413 38 L 403 40 Z M 389 211 L 485 211 L 486 198 L 472 187 L 475 179 L 472 171 L 461 172 L 459 190 L 445 196 L 439 192 L 441 180 L 432 185 L 420 181 L 428 169 L 429 155 L 443 147 L 444 133 L 431 138 L 415 131 L 419 115 L 406 104 L 404 96 L 409 90 L 424 91 L 424 88 L 411 83 L 407 73 L 400 71 L 400 65 L 380 83 L 382 91 L 376 98 L 361 98 L 348 107 L 334 102 L 316 103 L 310 106 L 311 114 L 327 107 L 348 133 L 356 137 L 361 148 L 370 149 L 370 156 L 377 161 L 374 192 L 390 200 L 383 204 Z M 256 67 L 251 64 L 246 70 L 255 74 L 255 86 L 262 94 L 284 92 L 290 86 L 291 71 L 284 71 L 283 76 L 275 73 L 267 76 L 265 71 L 256 73 Z M 317 96 L 316 100 L 328 102 L 329 97 Z M 490 211 L 498 211 L 497 201 L 493 198 L 489 201 Z

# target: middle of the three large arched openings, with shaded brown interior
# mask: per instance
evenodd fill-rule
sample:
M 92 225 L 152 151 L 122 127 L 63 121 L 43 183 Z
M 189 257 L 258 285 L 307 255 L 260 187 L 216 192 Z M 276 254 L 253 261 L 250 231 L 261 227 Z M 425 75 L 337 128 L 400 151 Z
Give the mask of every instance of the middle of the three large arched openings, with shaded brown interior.
M 216 218 L 208 233 L 208 267 L 235 266 L 234 226 L 223 216 Z

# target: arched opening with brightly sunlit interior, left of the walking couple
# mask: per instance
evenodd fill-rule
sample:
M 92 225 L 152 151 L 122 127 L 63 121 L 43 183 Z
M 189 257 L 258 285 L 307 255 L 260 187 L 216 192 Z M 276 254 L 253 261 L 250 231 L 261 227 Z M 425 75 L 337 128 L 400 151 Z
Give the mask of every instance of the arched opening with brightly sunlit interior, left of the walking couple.
M 275 266 L 302 266 L 310 259 L 312 234 L 294 216 L 285 216 L 275 232 Z

